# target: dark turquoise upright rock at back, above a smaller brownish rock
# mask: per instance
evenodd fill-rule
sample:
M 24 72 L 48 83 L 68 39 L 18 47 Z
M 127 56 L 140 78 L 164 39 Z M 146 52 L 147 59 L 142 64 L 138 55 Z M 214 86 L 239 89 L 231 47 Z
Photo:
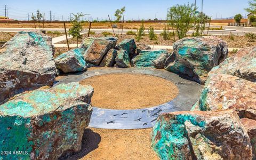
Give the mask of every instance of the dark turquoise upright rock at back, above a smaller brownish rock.
M 134 39 L 124 39 L 124 41 L 116 46 L 116 49 L 126 51 L 129 54 L 130 59 L 136 55 L 136 44 Z

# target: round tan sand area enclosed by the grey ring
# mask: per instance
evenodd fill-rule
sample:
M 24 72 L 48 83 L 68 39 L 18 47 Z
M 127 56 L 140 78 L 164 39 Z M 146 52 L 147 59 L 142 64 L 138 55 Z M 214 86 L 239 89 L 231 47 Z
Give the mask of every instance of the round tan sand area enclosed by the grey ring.
M 161 77 L 143 74 L 105 74 L 80 82 L 94 88 L 92 106 L 106 109 L 141 109 L 173 100 L 178 87 Z

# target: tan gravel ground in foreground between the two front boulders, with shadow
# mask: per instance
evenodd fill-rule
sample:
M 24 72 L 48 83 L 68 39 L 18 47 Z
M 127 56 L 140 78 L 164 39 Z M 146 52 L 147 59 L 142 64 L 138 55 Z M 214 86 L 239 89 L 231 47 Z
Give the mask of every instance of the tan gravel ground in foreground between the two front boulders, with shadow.
M 86 129 L 82 150 L 68 159 L 159 159 L 151 146 L 152 129 Z

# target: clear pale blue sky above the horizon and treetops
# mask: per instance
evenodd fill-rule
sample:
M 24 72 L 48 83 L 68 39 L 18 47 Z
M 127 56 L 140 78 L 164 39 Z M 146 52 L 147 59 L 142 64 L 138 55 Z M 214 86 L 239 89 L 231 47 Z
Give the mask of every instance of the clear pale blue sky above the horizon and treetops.
M 50 19 L 50 11 L 55 20 L 67 20 L 70 13 L 82 12 L 84 20 L 98 19 L 105 20 L 109 16 L 114 20 L 116 9 L 126 7 L 125 20 L 148 20 L 166 19 L 167 9 L 175 4 L 194 3 L 195 0 L 0 0 L 0 15 L 5 15 L 5 5 L 7 5 L 8 17 L 18 20 L 29 19 L 32 12 L 38 9 L 45 13 L 45 18 Z M 197 0 L 198 10 L 201 11 L 202 0 Z M 247 0 L 203 0 L 203 12 L 212 19 L 216 17 L 228 18 L 235 14 L 247 14 L 244 8 L 248 7 Z

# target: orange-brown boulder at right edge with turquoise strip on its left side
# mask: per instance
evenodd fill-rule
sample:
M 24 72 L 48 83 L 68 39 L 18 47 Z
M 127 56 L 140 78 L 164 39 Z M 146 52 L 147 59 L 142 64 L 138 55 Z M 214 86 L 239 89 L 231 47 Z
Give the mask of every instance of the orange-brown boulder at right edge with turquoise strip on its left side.
M 199 99 L 200 110 L 234 109 L 241 118 L 256 120 L 256 83 L 230 75 L 212 75 Z

